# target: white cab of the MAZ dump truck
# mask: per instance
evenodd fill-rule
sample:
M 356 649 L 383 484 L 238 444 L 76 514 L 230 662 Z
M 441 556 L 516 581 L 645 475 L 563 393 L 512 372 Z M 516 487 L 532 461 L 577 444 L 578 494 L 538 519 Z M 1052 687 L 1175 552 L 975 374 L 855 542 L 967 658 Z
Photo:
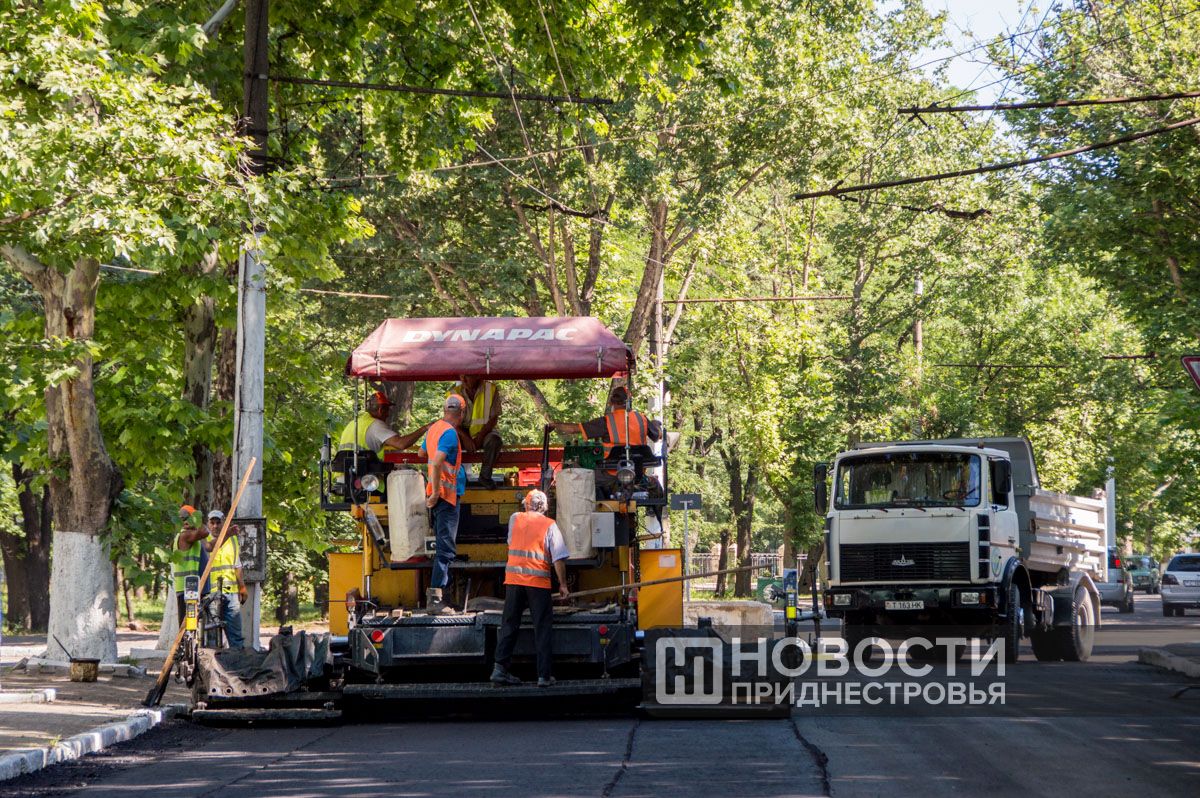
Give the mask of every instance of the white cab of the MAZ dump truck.
M 998 606 L 1018 539 L 1006 451 L 864 445 L 834 461 L 827 610 L 863 624 L 895 611 L 974 624 Z

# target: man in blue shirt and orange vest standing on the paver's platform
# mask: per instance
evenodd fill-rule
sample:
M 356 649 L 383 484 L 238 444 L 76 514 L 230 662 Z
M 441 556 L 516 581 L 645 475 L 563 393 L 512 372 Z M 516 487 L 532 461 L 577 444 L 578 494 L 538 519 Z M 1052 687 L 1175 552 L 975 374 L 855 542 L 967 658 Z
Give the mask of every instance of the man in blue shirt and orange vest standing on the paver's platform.
M 430 613 L 454 612 L 445 604 L 443 589 L 450 581 L 450 563 L 458 553 L 458 497 L 467 491 L 467 472 L 462 467 L 462 445 L 457 427 L 462 424 L 467 402 L 451 394 L 442 406 L 442 418 L 430 425 L 421 443 L 421 454 L 428 462 L 425 485 L 425 506 L 433 511 L 433 575 L 425 593 L 425 608 Z

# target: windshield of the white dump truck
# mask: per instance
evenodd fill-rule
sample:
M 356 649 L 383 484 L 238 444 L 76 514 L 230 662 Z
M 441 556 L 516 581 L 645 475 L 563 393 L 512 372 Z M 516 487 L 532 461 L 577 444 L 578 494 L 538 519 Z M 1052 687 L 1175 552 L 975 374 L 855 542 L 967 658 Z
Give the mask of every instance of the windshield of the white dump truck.
M 905 451 L 847 457 L 838 466 L 834 506 L 977 506 L 979 457 Z

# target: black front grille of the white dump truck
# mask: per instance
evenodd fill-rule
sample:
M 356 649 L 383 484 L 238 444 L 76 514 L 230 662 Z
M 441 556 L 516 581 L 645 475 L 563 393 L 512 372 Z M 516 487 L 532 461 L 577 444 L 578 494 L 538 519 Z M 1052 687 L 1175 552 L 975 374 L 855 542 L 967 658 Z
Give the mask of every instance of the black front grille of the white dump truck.
M 842 582 L 971 578 L 970 544 L 862 544 L 838 550 Z

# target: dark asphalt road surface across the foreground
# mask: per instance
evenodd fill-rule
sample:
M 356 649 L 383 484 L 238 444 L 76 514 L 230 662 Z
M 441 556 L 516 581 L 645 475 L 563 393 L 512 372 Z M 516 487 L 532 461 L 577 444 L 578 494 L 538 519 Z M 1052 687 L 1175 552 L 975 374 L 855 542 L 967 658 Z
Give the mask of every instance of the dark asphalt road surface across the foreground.
M 223 730 L 173 721 L 7 782 L 32 796 L 1198 796 L 1200 690 L 1136 649 L 1200 641 L 1158 596 L 1104 611 L 1086 664 L 1025 659 L 1008 702 L 953 716 L 780 721 L 446 720 Z

